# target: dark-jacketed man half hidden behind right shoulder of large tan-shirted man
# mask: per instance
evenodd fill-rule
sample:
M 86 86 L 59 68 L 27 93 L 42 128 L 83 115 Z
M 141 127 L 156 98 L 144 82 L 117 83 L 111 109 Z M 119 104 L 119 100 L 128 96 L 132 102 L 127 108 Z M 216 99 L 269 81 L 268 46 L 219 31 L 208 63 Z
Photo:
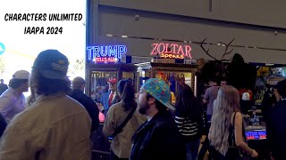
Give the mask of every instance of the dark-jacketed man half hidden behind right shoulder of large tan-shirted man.
M 92 120 L 91 132 L 94 132 L 97 130 L 97 127 L 99 125 L 99 120 L 98 120 L 99 111 L 97 108 L 97 104 L 86 94 L 83 93 L 85 84 L 86 82 L 82 77 L 80 76 L 75 77 L 71 82 L 72 90 L 69 96 L 71 96 L 71 98 L 74 100 L 78 100 L 80 104 L 87 109 L 88 115 Z

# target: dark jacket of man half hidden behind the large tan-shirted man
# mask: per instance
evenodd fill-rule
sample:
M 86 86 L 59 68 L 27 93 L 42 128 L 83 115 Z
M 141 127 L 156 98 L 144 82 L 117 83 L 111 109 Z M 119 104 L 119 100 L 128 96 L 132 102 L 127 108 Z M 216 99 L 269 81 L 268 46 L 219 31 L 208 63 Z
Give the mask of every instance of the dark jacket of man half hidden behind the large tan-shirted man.
M 87 109 L 92 120 L 91 132 L 96 131 L 99 125 L 97 104 L 79 89 L 72 90 L 69 96 L 74 100 L 78 100 Z

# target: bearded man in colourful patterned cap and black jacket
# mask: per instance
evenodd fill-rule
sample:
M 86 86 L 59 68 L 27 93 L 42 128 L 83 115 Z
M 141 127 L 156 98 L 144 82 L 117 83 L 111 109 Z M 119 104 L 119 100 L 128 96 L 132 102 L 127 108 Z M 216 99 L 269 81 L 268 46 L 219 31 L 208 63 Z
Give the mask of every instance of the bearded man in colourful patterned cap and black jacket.
M 140 88 L 137 98 L 139 113 L 147 116 L 147 122 L 133 135 L 130 160 L 185 160 L 185 144 L 167 110 L 174 110 L 168 84 L 151 78 Z

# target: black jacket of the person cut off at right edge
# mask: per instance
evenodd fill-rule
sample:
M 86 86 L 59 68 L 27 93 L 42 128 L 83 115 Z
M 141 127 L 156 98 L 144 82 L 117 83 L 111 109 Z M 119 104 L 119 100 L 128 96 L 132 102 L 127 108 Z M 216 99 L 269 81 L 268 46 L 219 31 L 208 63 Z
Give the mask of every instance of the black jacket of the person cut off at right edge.
M 281 100 L 268 109 L 266 134 L 268 147 L 275 160 L 285 159 L 286 100 Z

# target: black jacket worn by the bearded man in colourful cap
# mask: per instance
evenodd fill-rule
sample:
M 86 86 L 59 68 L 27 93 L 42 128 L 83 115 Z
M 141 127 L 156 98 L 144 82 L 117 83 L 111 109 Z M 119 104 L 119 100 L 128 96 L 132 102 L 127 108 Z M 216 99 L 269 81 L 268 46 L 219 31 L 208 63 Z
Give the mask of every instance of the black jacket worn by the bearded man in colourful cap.
M 186 159 L 186 144 L 169 112 L 140 125 L 132 140 L 130 160 Z

